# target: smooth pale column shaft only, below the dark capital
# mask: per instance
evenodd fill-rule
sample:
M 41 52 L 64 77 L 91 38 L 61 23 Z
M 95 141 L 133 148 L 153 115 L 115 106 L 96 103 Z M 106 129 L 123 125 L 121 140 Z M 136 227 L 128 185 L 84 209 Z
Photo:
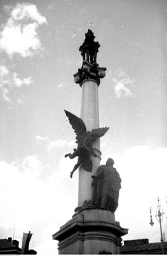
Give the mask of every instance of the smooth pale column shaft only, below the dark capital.
M 99 99 L 98 99 L 98 83 L 93 79 L 83 81 L 82 86 L 82 104 L 81 104 L 81 119 L 86 125 L 87 131 L 99 128 Z M 100 150 L 100 139 L 97 139 L 93 144 L 93 148 Z M 99 157 L 91 156 L 93 164 L 92 172 L 79 168 L 79 192 L 78 206 L 83 205 L 84 200 L 92 200 L 93 186 L 91 185 L 91 175 L 95 175 L 97 168 L 100 165 Z

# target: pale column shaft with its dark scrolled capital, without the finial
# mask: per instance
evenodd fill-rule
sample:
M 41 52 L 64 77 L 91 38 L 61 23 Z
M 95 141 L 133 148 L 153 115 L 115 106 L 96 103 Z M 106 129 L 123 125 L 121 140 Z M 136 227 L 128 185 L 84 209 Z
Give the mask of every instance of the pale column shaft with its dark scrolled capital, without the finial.
M 82 88 L 81 119 L 86 125 L 87 131 L 99 128 L 99 97 L 98 87 L 100 78 L 106 75 L 106 68 L 99 67 L 97 63 L 83 61 L 83 66 L 74 74 L 74 81 Z M 93 186 L 91 175 L 95 175 L 100 166 L 100 139 L 93 143 L 93 148 L 98 151 L 98 157 L 91 156 L 93 164 L 92 172 L 88 172 L 80 166 L 79 168 L 79 195 L 78 207 L 83 205 L 84 200 L 92 200 Z

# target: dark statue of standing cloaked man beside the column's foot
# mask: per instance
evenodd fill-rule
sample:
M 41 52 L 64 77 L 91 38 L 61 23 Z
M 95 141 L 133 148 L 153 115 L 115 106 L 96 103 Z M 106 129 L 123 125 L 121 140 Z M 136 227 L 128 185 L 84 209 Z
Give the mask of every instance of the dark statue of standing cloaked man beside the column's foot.
M 101 165 L 97 169 L 93 178 L 94 198 L 99 203 L 100 209 L 115 212 L 118 207 L 119 191 L 121 179 L 119 173 L 113 167 L 112 158 L 107 159 L 106 165 Z

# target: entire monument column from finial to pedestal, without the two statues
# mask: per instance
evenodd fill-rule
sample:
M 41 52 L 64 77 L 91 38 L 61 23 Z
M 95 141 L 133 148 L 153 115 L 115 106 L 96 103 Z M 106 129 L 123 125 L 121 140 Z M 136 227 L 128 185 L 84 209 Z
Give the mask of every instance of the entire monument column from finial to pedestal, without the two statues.
M 74 74 L 75 83 L 82 88 L 81 119 L 87 131 L 99 128 L 98 87 L 100 78 L 105 76 L 106 68 L 99 67 L 96 56 L 99 43 L 94 42 L 95 36 L 88 29 L 83 45 L 79 48 L 83 56 L 83 65 Z M 86 60 L 86 61 L 85 61 Z M 100 140 L 93 143 L 97 157 L 91 157 L 92 171 L 79 168 L 78 207 L 73 218 L 60 230 L 52 235 L 58 240 L 59 254 L 120 254 L 122 236 L 127 234 L 127 228 L 122 228 L 115 221 L 115 214 L 104 209 L 95 208 L 93 203 L 85 202 L 93 199 L 93 179 L 100 165 Z M 91 207 L 93 205 L 93 207 Z

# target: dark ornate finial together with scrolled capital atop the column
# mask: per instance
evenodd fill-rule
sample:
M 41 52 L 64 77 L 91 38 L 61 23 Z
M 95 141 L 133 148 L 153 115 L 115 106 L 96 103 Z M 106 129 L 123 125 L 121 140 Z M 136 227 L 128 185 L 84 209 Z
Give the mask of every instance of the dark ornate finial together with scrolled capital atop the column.
M 74 74 L 74 81 L 82 86 L 86 80 L 93 80 L 100 84 L 100 78 L 106 75 L 106 68 L 99 67 L 97 64 L 97 52 L 100 44 L 94 41 L 95 36 L 93 32 L 88 29 L 85 33 L 85 39 L 83 44 L 79 47 L 79 51 L 83 56 L 83 66 L 78 69 L 78 72 Z

